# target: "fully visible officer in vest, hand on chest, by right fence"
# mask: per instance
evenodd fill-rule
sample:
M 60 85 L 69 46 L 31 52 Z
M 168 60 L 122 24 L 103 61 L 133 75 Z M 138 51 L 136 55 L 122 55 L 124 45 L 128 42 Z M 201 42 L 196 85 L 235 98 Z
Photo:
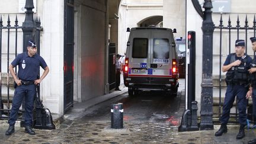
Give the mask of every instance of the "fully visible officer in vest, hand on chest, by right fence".
M 244 127 L 247 124 L 247 91 L 248 91 L 248 69 L 252 62 L 251 57 L 244 53 L 245 41 L 236 40 L 235 53 L 231 53 L 226 58 L 222 66 L 222 71 L 226 73 L 226 95 L 223 104 L 223 112 L 220 117 L 220 129 L 215 136 L 221 136 L 228 132 L 226 124 L 229 120 L 230 110 L 232 108 L 235 97 L 237 99 L 237 107 L 239 111 L 240 128 L 236 139 L 242 139 L 245 136 Z

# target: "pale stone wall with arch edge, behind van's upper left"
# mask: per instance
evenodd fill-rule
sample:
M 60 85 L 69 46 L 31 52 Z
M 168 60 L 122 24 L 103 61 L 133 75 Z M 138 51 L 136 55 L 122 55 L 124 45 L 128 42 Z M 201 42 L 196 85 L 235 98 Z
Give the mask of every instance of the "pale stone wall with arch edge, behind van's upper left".
M 163 0 L 123 0 L 119 7 L 119 44 L 118 53 L 123 55 L 126 52 L 126 43 L 129 33 L 126 28 L 139 27 L 137 25 L 145 18 L 163 15 Z

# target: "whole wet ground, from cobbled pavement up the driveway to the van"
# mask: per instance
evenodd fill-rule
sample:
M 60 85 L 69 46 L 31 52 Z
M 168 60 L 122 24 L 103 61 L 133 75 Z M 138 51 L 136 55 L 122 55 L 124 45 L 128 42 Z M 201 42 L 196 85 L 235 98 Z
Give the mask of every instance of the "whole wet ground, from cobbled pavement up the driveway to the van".
M 142 92 L 129 97 L 127 92 L 86 111 L 65 116 L 55 130 L 34 129 L 36 135 L 15 127 L 15 133 L 5 136 L 7 126 L 0 127 L 0 143 L 247 143 L 255 137 L 255 130 L 246 130 L 242 140 L 236 140 L 238 126 L 228 126 L 228 133 L 215 137 L 215 130 L 178 132 L 184 111 L 184 83 L 177 97 L 158 92 Z M 127 90 L 123 90 L 127 91 Z M 110 105 L 123 103 L 123 129 L 111 129 Z M 75 110 L 73 110 L 75 111 Z

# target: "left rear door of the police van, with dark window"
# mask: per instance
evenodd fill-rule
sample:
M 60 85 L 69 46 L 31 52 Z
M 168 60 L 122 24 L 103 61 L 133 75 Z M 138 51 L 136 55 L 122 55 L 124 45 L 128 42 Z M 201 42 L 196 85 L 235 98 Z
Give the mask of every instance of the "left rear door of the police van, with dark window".
M 149 39 L 151 37 L 151 31 L 147 29 L 136 29 L 132 31 L 132 41 L 130 46 L 129 55 L 129 76 L 135 77 L 138 83 L 149 83 L 148 68 L 149 68 Z

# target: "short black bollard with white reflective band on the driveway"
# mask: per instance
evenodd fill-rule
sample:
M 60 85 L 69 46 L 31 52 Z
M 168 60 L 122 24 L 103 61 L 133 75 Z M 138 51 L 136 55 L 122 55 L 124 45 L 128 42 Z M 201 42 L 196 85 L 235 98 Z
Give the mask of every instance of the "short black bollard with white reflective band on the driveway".
M 111 105 L 111 128 L 123 129 L 123 104 Z

